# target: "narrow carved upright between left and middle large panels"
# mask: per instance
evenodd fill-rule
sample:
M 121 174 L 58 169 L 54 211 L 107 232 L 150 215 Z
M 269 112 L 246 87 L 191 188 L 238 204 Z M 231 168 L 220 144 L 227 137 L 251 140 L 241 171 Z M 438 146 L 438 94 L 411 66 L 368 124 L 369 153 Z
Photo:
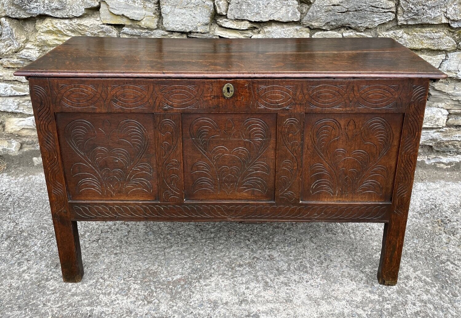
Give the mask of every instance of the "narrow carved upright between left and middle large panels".
M 157 114 L 156 127 L 160 202 L 182 202 L 184 194 L 181 115 Z

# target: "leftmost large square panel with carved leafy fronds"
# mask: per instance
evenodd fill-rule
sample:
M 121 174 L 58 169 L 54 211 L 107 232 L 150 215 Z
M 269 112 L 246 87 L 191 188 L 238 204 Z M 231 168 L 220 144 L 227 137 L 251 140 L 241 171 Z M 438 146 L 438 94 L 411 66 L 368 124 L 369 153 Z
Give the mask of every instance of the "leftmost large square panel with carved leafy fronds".
M 152 114 L 56 116 L 72 200 L 157 198 Z

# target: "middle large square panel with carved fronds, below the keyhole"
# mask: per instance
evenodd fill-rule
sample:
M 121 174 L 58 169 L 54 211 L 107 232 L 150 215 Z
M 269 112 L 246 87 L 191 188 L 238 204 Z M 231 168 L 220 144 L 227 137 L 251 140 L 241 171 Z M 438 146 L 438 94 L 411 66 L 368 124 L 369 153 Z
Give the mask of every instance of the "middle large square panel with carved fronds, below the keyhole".
M 276 115 L 183 115 L 186 198 L 273 200 Z

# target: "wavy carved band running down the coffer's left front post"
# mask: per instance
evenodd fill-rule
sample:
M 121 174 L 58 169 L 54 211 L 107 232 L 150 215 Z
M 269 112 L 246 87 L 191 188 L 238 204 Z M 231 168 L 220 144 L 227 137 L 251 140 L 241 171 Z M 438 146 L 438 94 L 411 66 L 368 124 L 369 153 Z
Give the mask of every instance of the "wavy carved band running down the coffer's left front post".
M 36 80 L 34 80 L 34 82 L 35 81 Z M 55 133 L 56 126 L 53 112 L 51 111 L 51 100 L 49 93 L 44 87 L 32 84 L 32 82 L 30 94 L 34 101 L 37 134 L 40 140 L 43 168 L 45 170 L 48 187 L 51 188 L 51 209 L 55 215 L 59 216 L 60 214 L 67 213 L 66 195 L 60 156 L 56 148 L 58 141 Z

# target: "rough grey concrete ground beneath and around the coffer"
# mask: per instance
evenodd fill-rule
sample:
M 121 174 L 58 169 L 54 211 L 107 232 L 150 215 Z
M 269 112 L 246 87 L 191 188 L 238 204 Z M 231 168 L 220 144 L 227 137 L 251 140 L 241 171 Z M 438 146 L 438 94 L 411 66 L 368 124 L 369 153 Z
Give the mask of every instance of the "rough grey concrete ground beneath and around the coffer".
M 80 222 L 63 283 L 40 169 L 0 174 L 0 317 L 460 317 L 459 166 L 421 166 L 397 286 L 382 224 Z

